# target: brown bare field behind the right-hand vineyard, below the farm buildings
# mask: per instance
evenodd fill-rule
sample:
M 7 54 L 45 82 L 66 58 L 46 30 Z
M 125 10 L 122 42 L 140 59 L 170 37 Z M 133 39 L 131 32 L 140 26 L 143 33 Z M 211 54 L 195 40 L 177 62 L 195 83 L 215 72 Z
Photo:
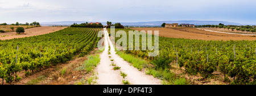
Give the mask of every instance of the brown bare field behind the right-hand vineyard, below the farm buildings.
M 226 34 L 209 32 L 195 28 L 130 28 L 134 30 L 159 30 L 159 36 L 172 38 L 189 38 L 196 40 L 256 40 L 256 37 L 242 36 L 240 34 Z

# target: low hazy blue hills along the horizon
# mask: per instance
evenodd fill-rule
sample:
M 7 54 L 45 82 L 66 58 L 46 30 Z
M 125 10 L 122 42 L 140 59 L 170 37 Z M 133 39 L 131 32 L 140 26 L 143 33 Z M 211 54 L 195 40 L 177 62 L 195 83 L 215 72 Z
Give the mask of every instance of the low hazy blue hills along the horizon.
M 91 21 L 88 21 L 90 23 Z M 92 21 L 93 23 L 97 21 Z M 106 25 L 106 22 L 101 22 L 102 25 Z M 44 22 L 40 23 L 40 25 L 44 26 L 51 26 L 51 25 L 72 25 L 73 23 L 81 24 L 86 23 L 86 21 L 56 21 L 56 22 Z M 117 22 L 112 22 L 112 24 Z M 160 26 L 163 23 L 179 23 L 179 24 L 194 24 L 194 25 L 218 25 L 219 23 L 222 23 L 224 25 L 241 25 L 240 23 L 232 23 L 228 21 L 199 21 L 199 20 L 179 20 L 179 21 L 144 21 L 144 22 L 135 22 L 135 23 L 127 23 L 127 22 L 119 22 L 124 26 L 148 26 L 148 27 L 154 27 L 154 26 Z

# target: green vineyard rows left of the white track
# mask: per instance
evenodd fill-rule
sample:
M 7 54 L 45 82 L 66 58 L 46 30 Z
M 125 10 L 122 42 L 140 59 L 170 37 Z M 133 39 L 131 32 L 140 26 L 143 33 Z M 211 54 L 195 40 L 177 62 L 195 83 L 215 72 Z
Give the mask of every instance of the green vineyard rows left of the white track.
M 0 41 L 0 78 L 7 83 L 19 81 L 17 72 L 25 75 L 72 59 L 76 53 L 84 56 L 100 38 L 101 28 L 65 28 L 39 36 Z

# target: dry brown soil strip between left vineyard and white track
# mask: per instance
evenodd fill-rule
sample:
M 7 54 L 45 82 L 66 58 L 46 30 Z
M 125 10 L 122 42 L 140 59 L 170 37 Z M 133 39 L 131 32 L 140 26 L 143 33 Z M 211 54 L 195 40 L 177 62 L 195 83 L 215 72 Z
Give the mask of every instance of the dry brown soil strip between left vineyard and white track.
M 89 55 L 95 55 L 98 49 L 94 49 L 89 53 Z M 86 72 L 86 71 L 76 71 L 75 68 L 80 66 L 87 58 L 88 55 L 85 55 L 83 57 L 78 57 L 79 54 L 76 54 L 73 56 L 73 60 L 70 60 L 67 63 L 57 64 L 56 66 L 51 66 L 48 68 L 43 68 L 41 71 L 38 72 L 32 72 L 29 76 L 24 75 L 24 71 L 17 73 L 20 77 L 22 77 L 22 80 L 16 82 L 12 82 L 11 85 L 24 85 L 28 84 L 28 82 L 31 82 L 32 80 L 36 80 L 40 76 L 44 76 L 44 80 L 37 82 L 36 84 L 39 85 L 72 85 L 75 84 L 77 80 L 80 80 L 82 77 L 87 79 L 91 76 L 92 72 Z M 67 68 L 66 73 L 62 76 L 60 73 L 60 70 L 63 68 Z M 0 84 L 2 84 L 2 80 L 0 81 Z M 7 83 L 4 84 L 9 85 Z

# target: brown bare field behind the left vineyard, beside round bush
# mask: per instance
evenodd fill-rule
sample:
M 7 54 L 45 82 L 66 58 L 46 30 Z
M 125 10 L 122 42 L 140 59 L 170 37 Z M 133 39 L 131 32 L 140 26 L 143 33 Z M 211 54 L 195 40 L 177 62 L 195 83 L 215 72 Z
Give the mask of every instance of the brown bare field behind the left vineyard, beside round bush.
M 0 40 L 9 40 L 12 38 L 22 38 L 22 37 L 30 37 L 30 36 L 38 36 L 40 34 L 47 34 L 51 32 L 55 32 L 57 30 L 61 30 L 67 27 L 35 27 L 30 29 L 25 29 L 24 34 L 16 34 L 16 32 L 7 32 L 0 33 Z

